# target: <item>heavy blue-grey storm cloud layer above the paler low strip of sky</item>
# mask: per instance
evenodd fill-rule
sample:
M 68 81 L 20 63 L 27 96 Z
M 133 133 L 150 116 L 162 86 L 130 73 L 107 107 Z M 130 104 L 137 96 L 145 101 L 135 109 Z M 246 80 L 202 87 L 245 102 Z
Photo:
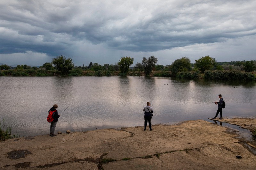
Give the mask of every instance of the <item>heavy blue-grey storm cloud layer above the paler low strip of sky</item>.
M 156 52 L 256 34 L 256 2 L 0 2 L 0 54 L 81 55 L 92 45 Z M 110 56 L 109 56 L 110 57 Z

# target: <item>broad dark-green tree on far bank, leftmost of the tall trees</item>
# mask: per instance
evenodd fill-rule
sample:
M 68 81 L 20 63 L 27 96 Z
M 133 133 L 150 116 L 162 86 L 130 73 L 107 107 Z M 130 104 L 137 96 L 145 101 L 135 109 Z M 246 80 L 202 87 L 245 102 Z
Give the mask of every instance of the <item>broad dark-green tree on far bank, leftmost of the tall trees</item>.
M 60 71 L 61 73 L 68 73 L 70 70 L 74 68 L 74 63 L 72 58 L 66 57 L 60 55 L 57 56 L 56 58 L 52 59 L 52 64 L 55 65 L 55 68 Z

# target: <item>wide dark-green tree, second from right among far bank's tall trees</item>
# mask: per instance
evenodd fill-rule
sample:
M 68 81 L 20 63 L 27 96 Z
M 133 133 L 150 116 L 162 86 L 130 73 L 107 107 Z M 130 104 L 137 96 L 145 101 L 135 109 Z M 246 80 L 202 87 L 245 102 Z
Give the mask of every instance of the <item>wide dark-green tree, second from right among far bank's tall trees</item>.
M 172 72 L 172 76 L 176 76 L 179 71 L 191 71 L 191 63 L 188 57 L 182 57 L 180 59 L 175 60 L 170 66 L 170 70 Z

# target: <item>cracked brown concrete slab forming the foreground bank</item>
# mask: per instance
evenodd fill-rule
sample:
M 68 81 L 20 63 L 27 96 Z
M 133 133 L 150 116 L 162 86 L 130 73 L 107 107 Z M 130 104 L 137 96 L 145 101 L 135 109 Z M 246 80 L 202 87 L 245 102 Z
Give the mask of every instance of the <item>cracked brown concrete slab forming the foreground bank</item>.
M 153 131 L 100 129 L 0 141 L 0 169 L 255 169 L 247 144 L 255 150 L 255 141 L 203 120 L 153 125 Z M 8 157 L 22 150 L 30 154 Z

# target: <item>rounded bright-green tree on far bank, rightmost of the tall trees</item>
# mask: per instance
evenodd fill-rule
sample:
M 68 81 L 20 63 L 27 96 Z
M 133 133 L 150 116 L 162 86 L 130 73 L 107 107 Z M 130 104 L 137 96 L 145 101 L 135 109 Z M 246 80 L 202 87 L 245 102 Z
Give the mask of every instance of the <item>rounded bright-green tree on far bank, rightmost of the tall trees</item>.
M 195 67 L 204 73 L 205 70 L 211 70 L 214 67 L 215 63 L 215 58 L 206 55 L 204 57 L 199 58 L 198 60 L 195 60 Z

